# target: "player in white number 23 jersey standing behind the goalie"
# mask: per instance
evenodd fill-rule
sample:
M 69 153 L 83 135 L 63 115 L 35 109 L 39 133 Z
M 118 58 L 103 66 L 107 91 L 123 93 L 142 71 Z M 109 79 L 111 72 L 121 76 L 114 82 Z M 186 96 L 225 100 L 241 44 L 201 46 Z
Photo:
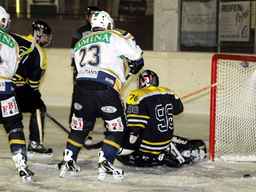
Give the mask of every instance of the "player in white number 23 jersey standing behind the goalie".
M 77 155 L 95 121 L 101 117 L 107 123 L 107 135 L 98 154 L 98 180 L 122 180 L 123 170 L 112 164 L 128 126 L 119 94 L 125 81 L 123 56 L 131 60 L 129 67 L 137 74 L 144 65 L 142 50 L 130 33 L 114 29 L 114 21 L 105 11 L 94 13 L 91 25 L 92 33 L 78 41 L 74 49 L 78 71 L 74 112 L 60 177 L 68 170 L 71 175 L 80 171 L 75 165 Z M 113 178 L 105 178 L 107 174 Z

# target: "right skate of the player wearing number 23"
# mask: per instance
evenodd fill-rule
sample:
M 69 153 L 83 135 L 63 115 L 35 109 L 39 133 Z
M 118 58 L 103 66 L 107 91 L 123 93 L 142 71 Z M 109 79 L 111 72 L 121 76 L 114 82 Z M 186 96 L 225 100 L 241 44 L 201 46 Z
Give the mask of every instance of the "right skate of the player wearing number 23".
M 122 180 L 123 179 L 123 170 L 115 168 L 110 164 L 105 157 L 103 157 L 103 151 L 98 152 L 99 155 L 99 168 L 98 173 L 99 181 L 112 181 L 112 180 Z M 105 178 L 107 174 L 111 174 L 113 178 Z

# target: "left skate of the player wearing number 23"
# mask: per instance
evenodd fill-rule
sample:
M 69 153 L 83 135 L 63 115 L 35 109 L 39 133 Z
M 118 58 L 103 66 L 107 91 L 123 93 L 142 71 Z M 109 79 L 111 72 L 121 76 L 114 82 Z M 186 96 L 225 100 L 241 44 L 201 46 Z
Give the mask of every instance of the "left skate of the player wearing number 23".
M 60 172 L 60 177 L 65 177 L 66 173 L 70 171 L 71 176 L 77 176 L 78 172 L 81 171 L 81 168 L 76 165 L 75 161 L 72 159 L 73 152 L 65 149 L 64 150 L 65 155 L 64 155 L 64 160 L 61 165 L 61 172 Z

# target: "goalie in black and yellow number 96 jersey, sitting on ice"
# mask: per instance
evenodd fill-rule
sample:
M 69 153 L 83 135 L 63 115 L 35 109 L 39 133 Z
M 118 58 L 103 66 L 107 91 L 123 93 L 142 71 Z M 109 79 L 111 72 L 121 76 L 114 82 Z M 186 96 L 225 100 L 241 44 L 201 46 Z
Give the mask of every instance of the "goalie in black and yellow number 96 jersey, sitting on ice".
M 180 98 L 166 87 L 158 87 L 157 74 L 150 70 L 137 78 L 137 90 L 129 93 L 126 112 L 129 132 L 117 159 L 126 165 L 180 167 L 206 157 L 202 140 L 173 136 L 173 115 L 184 110 Z

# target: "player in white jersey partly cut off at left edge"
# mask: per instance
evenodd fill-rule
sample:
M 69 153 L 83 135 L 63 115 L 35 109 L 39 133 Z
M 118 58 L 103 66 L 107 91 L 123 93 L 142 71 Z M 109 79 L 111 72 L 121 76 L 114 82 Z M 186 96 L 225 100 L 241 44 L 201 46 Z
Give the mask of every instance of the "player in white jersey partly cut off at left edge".
M 24 183 L 32 181 L 34 173 L 28 169 L 26 160 L 26 143 L 23 133 L 22 114 L 16 102 L 12 76 L 20 62 L 19 47 L 7 32 L 10 28 L 10 15 L 0 6 L 0 122 L 9 135 L 9 145 L 14 154 L 17 174 L 22 177 Z

